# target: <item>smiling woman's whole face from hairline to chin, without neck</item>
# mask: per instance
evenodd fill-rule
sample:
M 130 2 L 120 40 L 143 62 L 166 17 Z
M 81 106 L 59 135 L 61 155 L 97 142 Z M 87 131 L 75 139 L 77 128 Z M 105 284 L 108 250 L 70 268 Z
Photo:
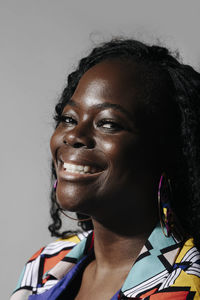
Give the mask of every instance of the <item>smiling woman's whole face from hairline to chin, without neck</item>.
M 80 79 L 50 143 L 62 208 L 98 218 L 124 207 L 144 217 L 152 210 L 157 181 L 149 168 L 152 146 L 135 125 L 143 118 L 137 74 L 133 63 L 112 60 Z

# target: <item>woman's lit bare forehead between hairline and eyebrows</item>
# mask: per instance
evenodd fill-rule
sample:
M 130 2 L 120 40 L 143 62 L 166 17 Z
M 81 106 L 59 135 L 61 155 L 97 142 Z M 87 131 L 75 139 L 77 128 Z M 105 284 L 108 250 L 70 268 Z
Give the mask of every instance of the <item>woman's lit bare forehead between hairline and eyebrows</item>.
M 72 98 L 75 101 L 110 101 L 131 109 L 142 86 L 134 63 L 109 60 L 90 68 L 80 79 Z

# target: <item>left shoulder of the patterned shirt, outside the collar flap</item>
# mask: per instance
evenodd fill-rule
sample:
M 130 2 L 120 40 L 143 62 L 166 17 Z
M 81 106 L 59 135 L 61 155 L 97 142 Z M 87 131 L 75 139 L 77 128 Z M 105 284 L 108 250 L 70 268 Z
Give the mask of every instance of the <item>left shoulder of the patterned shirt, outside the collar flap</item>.
M 43 287 L 49 271 L 64 260 L 67 254 L 88 234 L 89 232 L 76 233 L 66 238 L 57 239 L 35 252 L 23 268 L 11 300 L 27 299 L 34 292 L 34 289 Z

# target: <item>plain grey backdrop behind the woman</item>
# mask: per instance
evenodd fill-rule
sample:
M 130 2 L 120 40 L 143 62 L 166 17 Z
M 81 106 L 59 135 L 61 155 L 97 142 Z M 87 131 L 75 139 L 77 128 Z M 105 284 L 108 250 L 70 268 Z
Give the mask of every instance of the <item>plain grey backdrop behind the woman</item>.
M 52 240 L 49 138 L 67 74 L 116 35 L 159 38 L 198 69 L 199 15 L 198 0 L 0 1 L 1 299 L 25 261 Z

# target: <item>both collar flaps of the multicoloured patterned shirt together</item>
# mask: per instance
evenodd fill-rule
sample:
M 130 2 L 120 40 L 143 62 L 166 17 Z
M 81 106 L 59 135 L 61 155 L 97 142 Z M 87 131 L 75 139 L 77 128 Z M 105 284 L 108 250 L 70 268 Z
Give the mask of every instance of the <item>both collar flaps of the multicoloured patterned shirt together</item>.
M 63 261 L 58 263 L 48 274 L 56 275 L 58 279 L 61 279 L 75 265 L 75 262 L 81 261 L 83 257 L 88 255 L 88 252 L 93 247 L 93 238 L 94 233 L 91 232 L 87 238 L 77 244 L 65 256 Z M 148 290 L 162 283 L 169 275 L 181 246 L 182 242 L 176 240 L 173 236 L 166 237 L 162 232 L 160 224 L 158 224 L 134 262 L 121 288 L 122 293 L 126 297 L 133 297 L 138 295 L 140 291 Z M 73 263 L 71 263 L 72 261 Z M 62 263 L 66 265 L 64 264 L 62 276 L 59 276 L 58 273 L 61 272 L 60 265 Z

